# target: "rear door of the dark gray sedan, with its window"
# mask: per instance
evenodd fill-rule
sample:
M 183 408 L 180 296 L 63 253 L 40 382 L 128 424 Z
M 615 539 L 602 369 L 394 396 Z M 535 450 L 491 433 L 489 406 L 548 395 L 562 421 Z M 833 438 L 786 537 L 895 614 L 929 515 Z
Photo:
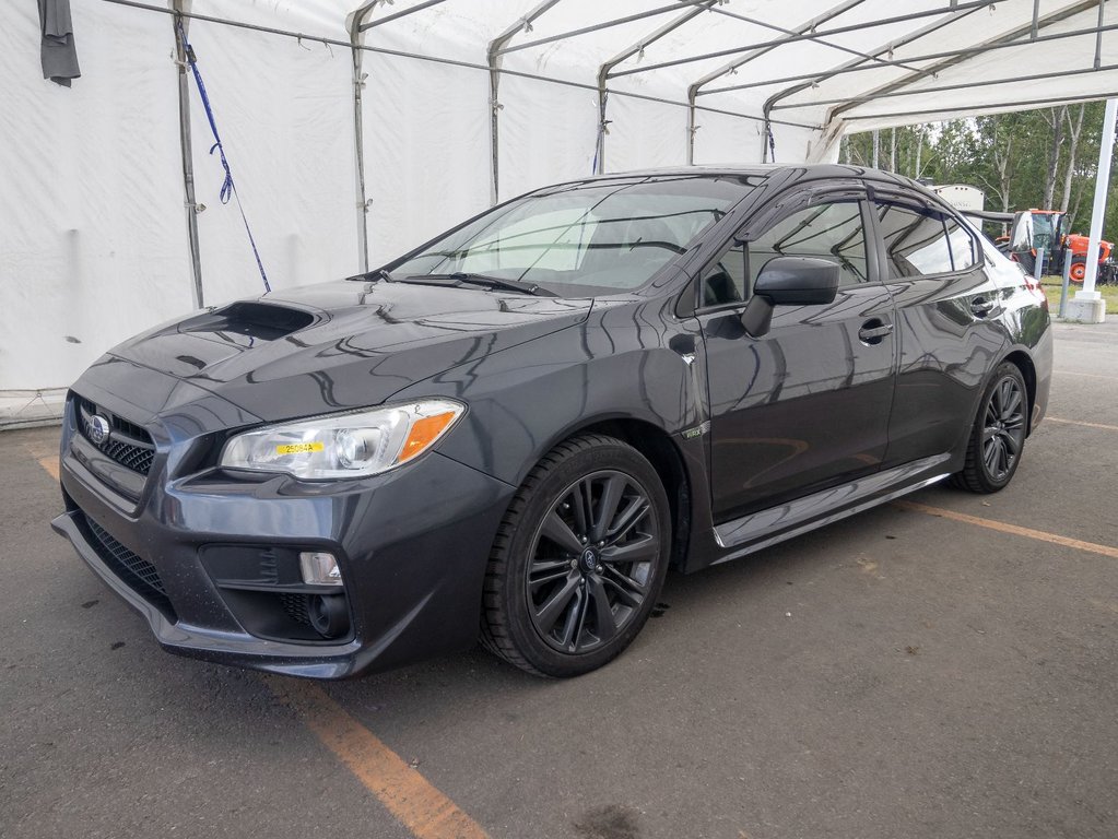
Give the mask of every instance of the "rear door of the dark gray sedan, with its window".
M 887 466 L 954 450 L 970 428 L 1006 334 L 1003 292 L 972 233 L 915 196 L 874 196 L 874 219 L 897 304 L 900 366 Z

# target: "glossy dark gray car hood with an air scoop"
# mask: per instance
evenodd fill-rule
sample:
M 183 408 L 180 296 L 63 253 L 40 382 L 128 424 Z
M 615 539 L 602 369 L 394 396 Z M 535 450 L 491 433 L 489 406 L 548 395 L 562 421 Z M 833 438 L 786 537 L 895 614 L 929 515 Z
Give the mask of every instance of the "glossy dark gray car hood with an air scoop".
M 200 312 L 110 355 L 272 421 L 379 404 L 453 366 L 580 323 L 591 304 L 339 280 Z

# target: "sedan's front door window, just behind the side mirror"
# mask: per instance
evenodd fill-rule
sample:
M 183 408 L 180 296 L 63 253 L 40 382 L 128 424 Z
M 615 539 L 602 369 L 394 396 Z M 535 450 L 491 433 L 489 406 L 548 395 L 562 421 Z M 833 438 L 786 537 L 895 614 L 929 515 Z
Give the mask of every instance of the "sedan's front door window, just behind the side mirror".
M 745 244 L 735 244 L 703 276 L 702 305 L 746 301 L 761 269 L 778 256 L 806 256 L 837 263 L 839 285 L 869 279 L 865 229 L 858 201 L 813 204 L 781 219 Z

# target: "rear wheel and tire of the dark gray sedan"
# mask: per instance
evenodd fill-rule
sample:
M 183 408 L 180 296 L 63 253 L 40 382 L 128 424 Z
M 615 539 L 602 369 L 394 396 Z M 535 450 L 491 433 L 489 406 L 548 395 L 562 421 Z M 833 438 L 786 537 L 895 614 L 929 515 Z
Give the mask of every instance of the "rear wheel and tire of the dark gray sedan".
M 967 460 L 953 483 L 972 493 L 996 493 L 1010 485 L 1025 446 L 1029 391 L 1016 364 L 1003 362 L 986 385 L 967 439 Z

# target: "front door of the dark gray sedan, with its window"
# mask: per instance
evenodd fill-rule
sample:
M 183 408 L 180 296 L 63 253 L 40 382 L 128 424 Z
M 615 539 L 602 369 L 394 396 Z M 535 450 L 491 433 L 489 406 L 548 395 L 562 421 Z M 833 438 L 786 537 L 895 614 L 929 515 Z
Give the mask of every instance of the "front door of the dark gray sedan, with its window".
M 711 490 L 724 522 L 877 471 L 893 397 L 893 306 L 869 244 L 861 188 L 804 192 L 747 226 L 701 279 Z M 756 217 L 755 217 L 756 218 Z M 754 229 L 756 228 L 756 229 Z M 755 339 L 740 316 L 764 265 L 813 256 L 842 268 L 834 303 L 780 306 Z

